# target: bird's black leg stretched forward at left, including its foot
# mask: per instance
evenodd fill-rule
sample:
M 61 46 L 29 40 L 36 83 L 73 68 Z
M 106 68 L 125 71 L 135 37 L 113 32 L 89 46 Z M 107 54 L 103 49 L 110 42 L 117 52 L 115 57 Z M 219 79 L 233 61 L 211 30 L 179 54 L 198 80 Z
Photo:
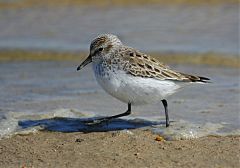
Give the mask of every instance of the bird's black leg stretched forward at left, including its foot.
M 111 119 L 114 118 L 118 118 L 118 117 L 123 117 L 123 116 L 127 116 L 131 114 L 131 103 L 128 103 L 128 109 L 126 112 L 121 113 L 121 114 L 117 114 L 117 115 L 113 115 L 113 116 L 109 116 L 109 117 L 102 117 L 102 118 L 98 118 L 92 121 L 87 121 L 87 124 L 91 125 L 91 124 L 100 124 L 102 122 L 107 122 Z

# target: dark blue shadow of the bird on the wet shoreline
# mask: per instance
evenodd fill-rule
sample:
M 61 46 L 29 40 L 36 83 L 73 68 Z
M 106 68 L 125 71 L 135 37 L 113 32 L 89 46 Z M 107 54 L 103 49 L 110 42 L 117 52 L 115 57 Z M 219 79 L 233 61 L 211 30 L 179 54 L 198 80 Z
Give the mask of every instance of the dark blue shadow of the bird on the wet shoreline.
M 54 117 L 41 120 L 21 120 L 18 125 L 22 129 L 40 126 L 42 130 L 54 132 L 107 132 L 124 129 L 137 129 L 153 125 L 164 125 L 165 123 L 148 121 L 143 119 L 113 119 L 100 124 L 88 124 L 94 118 L 65 118 Z

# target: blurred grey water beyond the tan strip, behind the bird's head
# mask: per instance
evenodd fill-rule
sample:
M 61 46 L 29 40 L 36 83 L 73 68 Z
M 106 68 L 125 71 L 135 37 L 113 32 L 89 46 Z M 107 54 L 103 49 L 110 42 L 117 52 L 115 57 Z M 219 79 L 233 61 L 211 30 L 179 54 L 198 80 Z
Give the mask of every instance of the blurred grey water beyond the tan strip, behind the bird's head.
M 29 7 L 0 10 L 0 48 L 88 50 L 113 33 L 143 51 L 238 53 L 238 6 Z

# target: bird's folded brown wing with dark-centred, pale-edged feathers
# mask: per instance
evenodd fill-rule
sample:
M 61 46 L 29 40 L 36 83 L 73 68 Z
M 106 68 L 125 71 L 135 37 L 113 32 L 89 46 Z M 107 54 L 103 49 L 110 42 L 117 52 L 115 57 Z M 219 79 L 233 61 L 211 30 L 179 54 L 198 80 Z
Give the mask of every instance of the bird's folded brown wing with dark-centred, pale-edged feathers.
M 133 48 L 122 49 L 119 53 L 124 62 L 127 62 L 124 66 L 124 70 L 133 76 L 183 82 L 206 82 L 206 80 L 209 80 L 205 77 L 174 71 L 155 58 Z

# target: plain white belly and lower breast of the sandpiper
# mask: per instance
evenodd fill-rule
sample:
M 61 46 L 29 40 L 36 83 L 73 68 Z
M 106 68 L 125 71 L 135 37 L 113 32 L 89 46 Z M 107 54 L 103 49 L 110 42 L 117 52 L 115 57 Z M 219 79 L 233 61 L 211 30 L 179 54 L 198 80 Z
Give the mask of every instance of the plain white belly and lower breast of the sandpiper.
M 124 71 L 95 76 L 102 88 L 113 97 L 133 105 L 154 104 L 176 92 L 179 85 L 172 81 L 135 77 Z

